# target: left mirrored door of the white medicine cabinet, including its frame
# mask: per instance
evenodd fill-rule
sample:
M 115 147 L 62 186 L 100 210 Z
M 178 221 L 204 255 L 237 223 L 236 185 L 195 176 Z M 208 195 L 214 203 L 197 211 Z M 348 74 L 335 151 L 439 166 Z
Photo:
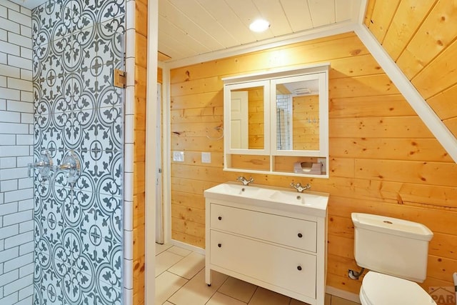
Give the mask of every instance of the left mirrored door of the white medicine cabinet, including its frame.
M 251 81 L 224 86 L 225 141 L 231 154 L 269 154 L 270 91 L 268 81 Z M 267 135 L 267 136 L 266 136 Z

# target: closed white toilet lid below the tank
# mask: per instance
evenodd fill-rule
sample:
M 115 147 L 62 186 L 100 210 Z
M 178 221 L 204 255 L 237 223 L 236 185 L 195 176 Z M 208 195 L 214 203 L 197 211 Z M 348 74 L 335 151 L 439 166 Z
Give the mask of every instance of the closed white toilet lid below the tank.
M 413 281 L 369 271 L 363 278 L 361 299 L 368 305 L 433 305 L 425 290 Z

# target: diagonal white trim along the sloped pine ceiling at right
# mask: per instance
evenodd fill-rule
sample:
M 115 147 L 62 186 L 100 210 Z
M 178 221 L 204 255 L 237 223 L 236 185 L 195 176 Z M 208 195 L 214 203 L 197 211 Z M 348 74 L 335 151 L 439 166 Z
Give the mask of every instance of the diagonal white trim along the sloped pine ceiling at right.
M 457 139 L 449 131 L 448 127 L 436 115 L 435 111 L 431 109 L 422 95 L 417 91 L 416 87 L 411 84 L 411 81 L 403 74 L 400 68 L 391 56 L 388 55 L 386 50 L 379 44 L 371 31 L 368 30 L 365 24 L 359 24 L 356 28 L 358 38 L 365 44 L 366 49 L 370 51 L 371 55 L 378 61 L 378 64 L 386 72 L 387 76 L 391 79 L 393 84 L 397 87 L 398 91 L 403 94 L 404 98 L 411 107 L 416 111 L 424 124 L 430 129 L 433 136 L 440 142 L 446 149 L 453 161 L 457 162 Z

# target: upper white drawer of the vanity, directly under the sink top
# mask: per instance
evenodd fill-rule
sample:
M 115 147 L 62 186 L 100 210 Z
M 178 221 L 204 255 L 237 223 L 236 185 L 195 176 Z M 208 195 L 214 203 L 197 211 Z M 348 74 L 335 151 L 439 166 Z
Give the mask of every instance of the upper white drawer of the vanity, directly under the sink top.
M 316 222 L 211 204 L 211 229 L 316 252 Z

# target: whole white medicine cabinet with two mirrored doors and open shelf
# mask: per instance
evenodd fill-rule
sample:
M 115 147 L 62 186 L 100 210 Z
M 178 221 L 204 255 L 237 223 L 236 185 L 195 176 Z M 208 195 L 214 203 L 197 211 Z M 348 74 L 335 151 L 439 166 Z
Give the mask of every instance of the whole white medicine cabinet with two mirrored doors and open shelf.
M 328 178 L 328 68 L 224 78 L 224 170 Z

